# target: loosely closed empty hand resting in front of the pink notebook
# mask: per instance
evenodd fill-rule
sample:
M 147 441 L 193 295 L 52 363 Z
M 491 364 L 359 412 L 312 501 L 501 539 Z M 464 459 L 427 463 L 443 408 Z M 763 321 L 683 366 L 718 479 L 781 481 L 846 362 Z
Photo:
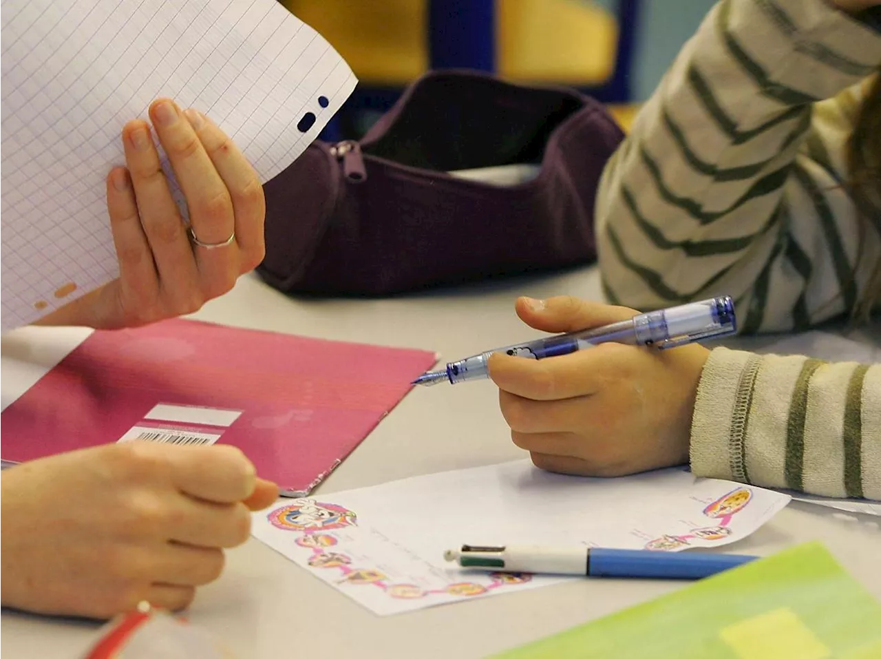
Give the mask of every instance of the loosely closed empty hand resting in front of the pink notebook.
M 0 605 L 109 618 L 181 609 L 248 539 L 278 488 L 230 446 L 135 441 L 57 455 L 0 477 Z

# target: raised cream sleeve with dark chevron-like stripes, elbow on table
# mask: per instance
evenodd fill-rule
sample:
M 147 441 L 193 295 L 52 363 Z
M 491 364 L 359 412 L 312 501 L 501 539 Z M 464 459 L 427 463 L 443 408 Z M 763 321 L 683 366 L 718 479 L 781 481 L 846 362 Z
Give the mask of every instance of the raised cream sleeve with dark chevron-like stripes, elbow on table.
M 823 0 L 718 4 L 603 174 L 596 233 L 611 301 L 662 307 L 722 289 L 748 300 L 780 256 L 785 184 L 814 102 L 879 62 L 881 35 Z

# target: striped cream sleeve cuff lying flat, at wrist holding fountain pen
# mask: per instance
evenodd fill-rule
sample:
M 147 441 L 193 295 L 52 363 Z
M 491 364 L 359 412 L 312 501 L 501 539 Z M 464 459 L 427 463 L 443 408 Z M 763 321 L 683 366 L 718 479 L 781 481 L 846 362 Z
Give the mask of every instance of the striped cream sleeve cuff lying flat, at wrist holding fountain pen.
M 881 365 L 716 348 L 691 463 L 698 476 L 881 500 Z

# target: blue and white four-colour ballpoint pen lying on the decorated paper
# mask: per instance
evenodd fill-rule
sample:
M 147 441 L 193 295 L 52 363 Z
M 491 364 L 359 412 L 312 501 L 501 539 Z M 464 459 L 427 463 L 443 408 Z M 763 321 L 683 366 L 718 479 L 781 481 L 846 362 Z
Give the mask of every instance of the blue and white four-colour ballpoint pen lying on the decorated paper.
M 577 574 L 628 579 L 703 579 L 758 557 L 736 554 L 650 552 L 645 549 L 599 549 L 576 545 L 533 544 L 479 547 L 463 544 L 444 552 L 444 559 L 462 567 L 491 572 Z

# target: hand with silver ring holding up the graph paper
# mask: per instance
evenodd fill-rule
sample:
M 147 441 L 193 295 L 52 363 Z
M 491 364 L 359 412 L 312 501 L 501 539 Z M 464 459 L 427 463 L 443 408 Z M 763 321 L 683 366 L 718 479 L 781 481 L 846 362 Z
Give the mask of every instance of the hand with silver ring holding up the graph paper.
M 107 210 L 120 276 L 40 324 L 115 329 L 192 313 L 229 291 L 264 253 L 263 187 L 244 155 L 210 119 L 157 100 L 150 117 L 189 209 L 189 240 L 150 126 L 122 130 L 126 167 L 107 176 Z M 226 244 L 226 241 L 229 243 Z

